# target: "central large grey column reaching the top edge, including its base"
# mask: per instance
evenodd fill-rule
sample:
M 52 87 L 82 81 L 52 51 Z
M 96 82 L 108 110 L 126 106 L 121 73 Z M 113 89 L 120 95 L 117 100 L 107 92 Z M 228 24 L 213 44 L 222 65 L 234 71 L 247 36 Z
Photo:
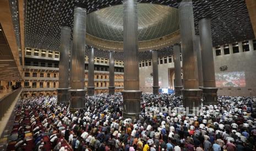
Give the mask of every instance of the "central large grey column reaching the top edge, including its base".
M 138 14 L 136 0 L 123 1 L 123 54 L 123 117 L 138 118 L 141 111 L 141 91 L 139 90 Z

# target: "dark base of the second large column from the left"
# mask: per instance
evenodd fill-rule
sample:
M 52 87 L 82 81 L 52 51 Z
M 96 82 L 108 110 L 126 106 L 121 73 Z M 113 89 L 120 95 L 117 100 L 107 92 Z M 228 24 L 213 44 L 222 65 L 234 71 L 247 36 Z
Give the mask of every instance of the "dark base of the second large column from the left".
M 78 111 L 79 109 L 85 108 L 85 93 L 83 89 L 79 90 L 68 90 L 70 92 L 70 106 L 69 110 L 71 113 Z

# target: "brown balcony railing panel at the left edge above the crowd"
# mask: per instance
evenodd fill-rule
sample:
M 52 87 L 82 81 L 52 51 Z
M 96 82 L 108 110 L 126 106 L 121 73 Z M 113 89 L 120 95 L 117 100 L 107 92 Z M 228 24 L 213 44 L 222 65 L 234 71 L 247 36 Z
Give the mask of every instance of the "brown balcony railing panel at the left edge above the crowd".
M 14 90 L 0 99 L 0 120 L 4 117 L 4 114 L 9 109 L 15 98 L 20 94 L 22 88 Z

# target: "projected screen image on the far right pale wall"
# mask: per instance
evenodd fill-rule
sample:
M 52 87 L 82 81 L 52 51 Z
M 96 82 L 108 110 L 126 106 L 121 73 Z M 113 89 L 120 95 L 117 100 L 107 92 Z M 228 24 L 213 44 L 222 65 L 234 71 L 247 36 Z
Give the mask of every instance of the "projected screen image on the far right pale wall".
M 244 87 L 246 86 L 246 75 L 244 72 L 222 72 L 215 73 L 216 86 Z

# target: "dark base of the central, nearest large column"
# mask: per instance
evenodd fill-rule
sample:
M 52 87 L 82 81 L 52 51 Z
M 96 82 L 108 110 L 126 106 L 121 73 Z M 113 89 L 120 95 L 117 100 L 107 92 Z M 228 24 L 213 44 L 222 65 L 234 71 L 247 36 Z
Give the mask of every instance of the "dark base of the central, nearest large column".
M 140 98 L 141 91 L 129 90 L 122 91 L 123 95 L 123 118 L 138 119 L 141 112 Z

